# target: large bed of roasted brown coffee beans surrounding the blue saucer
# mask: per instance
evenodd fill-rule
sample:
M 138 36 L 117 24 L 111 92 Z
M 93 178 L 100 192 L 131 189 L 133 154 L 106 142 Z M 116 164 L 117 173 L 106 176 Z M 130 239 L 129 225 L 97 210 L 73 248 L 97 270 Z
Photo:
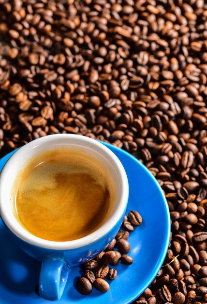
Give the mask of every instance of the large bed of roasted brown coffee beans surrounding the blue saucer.
M 169 250 L 137 302 L 207 303 L 207 1 L 0 0 L 0 155 L 58 133 L 163 188 Z

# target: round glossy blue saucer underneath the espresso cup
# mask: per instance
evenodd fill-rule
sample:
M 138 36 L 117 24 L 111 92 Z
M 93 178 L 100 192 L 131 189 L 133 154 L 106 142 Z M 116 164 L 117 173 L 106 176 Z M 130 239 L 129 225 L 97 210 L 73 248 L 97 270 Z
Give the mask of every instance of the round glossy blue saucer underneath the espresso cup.
M 170 216 L 163 191 L 153 175 L 131 154 L 105 144 L 122 162 L 129 179 L 129 203 L 127 213 L 137 210 L 143 223 L 130 234 L 129 241 L 133 265 L 121 263 L 115 268 L 118 277 L 109 282 L 110 289 L 101 293 L 93 288 L 89 296 L 75 289 L 80 268 L 71 271 L 59 304 L 127 304 L 136 299 L 153 281 L 160 270 L 170 238 Z M 14 152 L 0 160 L 0 170 Z M 0 304 L 47 304 L 35 293 L 41 264 L 22 252 L 0 220 Z

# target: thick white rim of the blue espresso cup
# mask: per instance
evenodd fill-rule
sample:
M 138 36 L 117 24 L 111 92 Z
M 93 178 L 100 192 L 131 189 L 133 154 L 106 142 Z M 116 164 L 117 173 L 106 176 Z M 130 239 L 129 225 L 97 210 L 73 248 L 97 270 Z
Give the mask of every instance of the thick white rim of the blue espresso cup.
M 103 225 L 98 228 L 96 231 L 91 233 L 88 236 L 84 236 L 79 239 L 75 239 L 72 241 L 64 241 L 64 242 L 57 242 L 57 241 L 49 241 L 49 240 L 44 240 L 40 237 L 34 236 L 30 234 L 27 230 L 25 230 L 15 219 L 14 217 L 11 217 L 8 215 L 8 212 L 6 212 L 5 206 L 6 203 L 10 202 L 5 202 L 4 200 L 4 184 L 5 184 L 5 176 L 7 169 L 10 166 L 14 166 L 14 164 L 17 164 L 17 166 L 20 166 L 18 164 L 18 157 L 22 153 L 29 153 L 30 149 L 35 148 L 37 145 L 43 145 L 47 144 L 49 141 L 55 141 L 58 138 L 63 139 L 63 140 L 77 140 L 77 142 L 82 142 L 87 145 L 90 145 L 92 148 L 97 148 L 99 151 L 102 151 L 104 155 L 108 157 L 110 162 L 113 163 L 114 168 L 117 170 L 119 177 L 120 177 L 120 201 L 118 203 L 118 206 L 116 207 L 116 210 L 109 216 L 109 218 L 103 223 Z M 26 155 L 26 154 L 25 154 Z M 10 188 L 12 185 L 10 186 Z M 70 249 L 76 249 L 80 247 L 87 246 L 91 243 L 96 242 L 103 236 L 105 236 L 107 233 L 109 233 L 113 227 L 116 225 L 118 220 L 124 215 L 124 212 L 126 210 L 127 202 L 128 202 L 128 196 L 129 196 L 129 185 L 128 185 L 128 179 L 127 175 L 125 172 L 125 169 L 123 165 L 121 164 L 120 160 L 118 157 L 106 146 L 104 146 L 102 143 L 100 143 L 97 140 L 91 139 L 86 136 L 82 135 L 71 135 L 71 134 L 57 134 L 57 135 L 47 135 L 38 139 L 35 139 L 28 143 L 27 145 L 23 146 L 20 148 L 18 151 L 16 151 L 11 158 L 7 161 L 5 166 L 3 167 L 1 173 L 0 173 L 0 216 L 6 226 L 15 234 L 15 236 L 19 237 L 23 241 L 30 243 L 32 245 L 38 246 L 38 247 L 43 247 L 46 249 L 51 249 L 51 250 L 70 250 Z M 12 204 L 10 203 L 11 208 Z

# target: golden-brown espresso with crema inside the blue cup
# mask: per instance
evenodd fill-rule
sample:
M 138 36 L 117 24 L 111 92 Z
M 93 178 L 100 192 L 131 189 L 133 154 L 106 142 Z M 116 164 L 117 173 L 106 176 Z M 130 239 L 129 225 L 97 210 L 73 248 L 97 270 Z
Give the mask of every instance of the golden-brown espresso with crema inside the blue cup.
M 70 241 L 97 230 L 115 202 L 110 173 L 88 153 L 56 148 L 30 160 L 13 187 L 13 210 L 31 234 Z

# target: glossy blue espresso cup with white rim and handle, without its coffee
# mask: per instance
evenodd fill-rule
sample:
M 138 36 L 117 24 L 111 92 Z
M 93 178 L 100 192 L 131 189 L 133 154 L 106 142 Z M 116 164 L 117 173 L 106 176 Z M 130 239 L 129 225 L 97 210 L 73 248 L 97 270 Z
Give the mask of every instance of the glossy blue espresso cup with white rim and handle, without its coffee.
M 111 214 L 103 225 L 88 236 L 73 241 L 49 241 L 30 234 L 16 220 L 12 188 L 20 169 L 33 156 L 56 147 L 87 152 L 108 169 L 116 189 Z M 47 300 L 60 299 L 72 267 L 81 265 L 101 253 L 118 233 L 128 202 L 126 172 L 118 157 L 102 143 L 81 135 L 48 135 L 31 141 L 15 152 L 0 173 L 0 216 L 15 243 L 42 262 L 39 292 Z

